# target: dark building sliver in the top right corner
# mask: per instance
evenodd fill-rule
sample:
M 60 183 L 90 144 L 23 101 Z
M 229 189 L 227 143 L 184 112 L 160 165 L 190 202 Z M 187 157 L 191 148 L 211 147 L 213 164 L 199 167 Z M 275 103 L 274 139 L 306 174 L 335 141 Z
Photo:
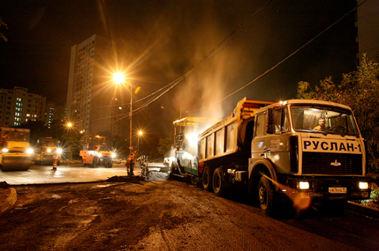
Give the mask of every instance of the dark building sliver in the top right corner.
M 364 0 L 357 0 L 359 5 Z M 358 54 L 360 61 L 366 53 L 369 60 L 379 59 L 379 1 L 365 1 L 357 8 L 356 27 L 358 28 Z

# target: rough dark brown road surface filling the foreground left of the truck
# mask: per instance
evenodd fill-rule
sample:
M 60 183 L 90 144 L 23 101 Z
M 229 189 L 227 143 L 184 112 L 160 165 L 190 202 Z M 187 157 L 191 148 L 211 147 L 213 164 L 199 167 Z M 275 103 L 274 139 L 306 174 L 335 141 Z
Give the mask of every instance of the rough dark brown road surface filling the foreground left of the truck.
M 16 190 L 0 250 L 357 250 L 179 181 Z

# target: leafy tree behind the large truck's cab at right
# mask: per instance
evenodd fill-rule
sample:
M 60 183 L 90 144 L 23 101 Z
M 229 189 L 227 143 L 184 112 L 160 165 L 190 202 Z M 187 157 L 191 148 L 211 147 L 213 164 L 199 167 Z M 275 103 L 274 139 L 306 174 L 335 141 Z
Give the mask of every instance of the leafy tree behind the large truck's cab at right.
M 368 61 L 366 55 L 354 72 L 342 74 L 336 86 L 331 77 L 320 81 L 312 90 L 307 82 L 298 83 L 299 99 L 318 99 L 342 103 L 353 110 L 360 132 L 367 140 L 369 164 L 379 172 L 379 64 Z

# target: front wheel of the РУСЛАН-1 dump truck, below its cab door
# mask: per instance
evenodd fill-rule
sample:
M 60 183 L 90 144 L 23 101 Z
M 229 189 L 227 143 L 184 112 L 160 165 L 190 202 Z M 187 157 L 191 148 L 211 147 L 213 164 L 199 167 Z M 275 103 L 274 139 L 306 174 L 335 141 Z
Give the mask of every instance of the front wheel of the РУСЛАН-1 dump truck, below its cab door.
M 258 202 L 260 209 L 266 215 L 272 215 L 274 205 L 274 189 L 266 177 L 261 177 L 258 183 Z

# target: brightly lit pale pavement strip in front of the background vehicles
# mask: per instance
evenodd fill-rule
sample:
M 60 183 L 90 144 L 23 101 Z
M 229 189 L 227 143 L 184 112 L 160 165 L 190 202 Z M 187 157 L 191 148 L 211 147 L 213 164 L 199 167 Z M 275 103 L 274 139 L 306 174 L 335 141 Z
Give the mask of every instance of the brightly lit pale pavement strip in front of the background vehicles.
M 141 168 L 134 168 L 134 175 L 140 175 Z M 26 171 L 0 171 L 0 182 L 9 185 L 30 185 L 49 183 L 83 183 L 105 181 L 114 176 L 127 176 L 125 165 L 113 164 L 112 168 L 90 168 L 79 163 L 61 164 L 57 170 L 52 165 L 32 165 Z

